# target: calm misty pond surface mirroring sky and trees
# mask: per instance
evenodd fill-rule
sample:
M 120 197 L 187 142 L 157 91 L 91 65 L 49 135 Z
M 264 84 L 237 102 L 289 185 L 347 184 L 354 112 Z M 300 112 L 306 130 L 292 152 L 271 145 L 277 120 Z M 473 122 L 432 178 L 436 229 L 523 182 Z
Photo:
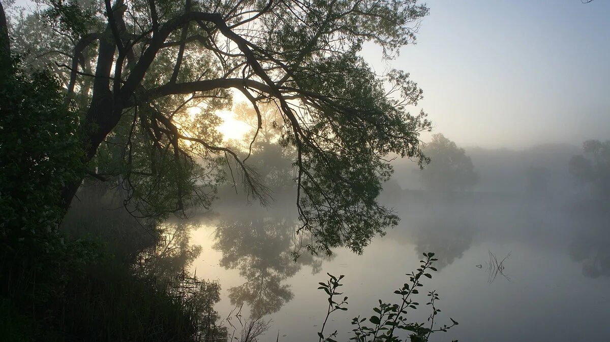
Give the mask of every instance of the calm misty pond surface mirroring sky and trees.
M 401 223 L 376 237 L 364 254 L 338 249 L 332 256 L 290 253 L 300 243 L 293 206 L 224 205 L 193 218 L 190 241 L 201 246 L 197 276 L 221 285 L 216 309 L 223 324 L 264 316 L 262 341 L 314 341 L 328 302 L 317 290 L 326 273 L 345 274 L 348 310 L 334 312 L 325 333 L 348 340 L 351 318 L 371 316 L 378 299 L 393 294 L 423 252 L 436 253 L 437 272 L 425 279 L 412 319 L 426 321 L 425 294 L 437 290 L 437 321 L 459 326 L 433 341 L 610 341 L 610 215 L 594 203 L 473 195 L 426 199 L 395 197 Z M 490 268 L 490 253 L 503 274 Z M 490 274 L 490 271 L 492 272 Z M 495 275 L 495 278 L 493 277 Z M 237 309 L 235 309 L 237 307 Z

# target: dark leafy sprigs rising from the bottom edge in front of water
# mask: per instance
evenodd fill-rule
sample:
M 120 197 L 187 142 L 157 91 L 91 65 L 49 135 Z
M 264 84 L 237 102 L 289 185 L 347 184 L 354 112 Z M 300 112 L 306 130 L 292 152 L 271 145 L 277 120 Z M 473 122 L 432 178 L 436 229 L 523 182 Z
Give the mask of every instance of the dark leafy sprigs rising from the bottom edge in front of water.
M 427 324 L 412 323 L 407 319 L 406 315 L 408 310 L 415 310 L 418 305 L 420 305 L 412 299 L 412 295 L 417 295 L 419 293 L 417 288 L 423 286 L 421 283 L 422 277 L 431 278 L 432 275 L 428 272 L 436 271 L 436 268 L 432 267 L 432 263 L 437 260 L 434 259 L 434 253 L 423 253 L 423 256 L 425 259 L 420 260 L 421 265 L 420 268 L 417 269 L 417 273 L 412 272 L 407 274 L 407 276 L 409 276 L 409 283 L 405 283 L 403 287 L 394 291 L 395 294 L 401 297 L 398 303 L 392 304 L 382 302 L 381 299 L 379 299 L 379 306 L 373 308 L 375 314 L 368 318 L 368 322 L 373 324 L 373 326 L 369 327 L 365 325 L 367 318 L 357 316 L 352 319 L 351 324 L 353 324 L 354 329 L 352 330 L 353 337 L 351 337 L 350 340 L 403 341 L 399 336 L 400 331 L 403 331 L 409 334 L 409 340 L 412 342 L 426 342 L 433 332 L 446 332 L 448 329 L 451 329 L 451 327 L 458 325 L 458 322 L 454 321 L 453 318 L 450 318 L 451 325 L 447 326 L 445 324 L 434 329 L 434 319 L 436 318 L 437 313 L 440 312 L 440 309 L 437 309 L 436 307 L 436 301 L 439 300 L 436 291 L 428 292 L 429 299 L 426 305 L 430 305 L 432 313 L 428 318 Z M 320 337 L 320 341 L 336 342 L 334 338 L 337 337 L 337 330 L 325 337 L 324 328 L 328 321 L 328 317 L 332 312 L 336 310 L 347 310 L 344 305 L 348 304 L 348 298 L 344 297 L 339 303 L 333 300 L 334 296 L 342 295 L 342 293 L 337 292 L 337 288 L 343 285 L 339 282 L 343 279 L 343 276 L 340 276 L 339 278 L 332 276 L 332 274 L 328 274 L 328 276 L 330 279 L 326 283 L 320 282 L 320 287 L 318 287 L 318 289 L 326 292 L 329 303 L 326 319 L 322 325 L 321 331 L 318 332 L 318 337 Z

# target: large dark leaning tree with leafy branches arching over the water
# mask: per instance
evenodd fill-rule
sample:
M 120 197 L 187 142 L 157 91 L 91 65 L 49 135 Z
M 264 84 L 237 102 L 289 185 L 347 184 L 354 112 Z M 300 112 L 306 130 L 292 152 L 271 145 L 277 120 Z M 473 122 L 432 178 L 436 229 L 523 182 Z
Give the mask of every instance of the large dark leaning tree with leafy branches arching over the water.
M 215 112 L 241 92 L 281 113 L 281 142 L 296 150 L 299 230 L 312 251 L 361 252 L 398 217 L 376 198 L 388 155 L 420 163 L 425 114 L 409 74 L 379 75 L 365 43 L 391 59 L 415 40 L 425 5 L 416 0 L 42 0 L 13 21 L 12 44 L 32 65 L 52 66 L 81 110 L 85 174 L 112 178 L 137 212 L 163 217 L 209 206 L 224 167 L 249 197 L 267 190 L 248 155 L 223 145 Z M 41 26 L 42 25 L 42 26 Z M 40 27 L 42 27 L 40 29 Z M 36 34 L 32 34 L 38 30 Z M 189 107 L 197 106 L 198 111 Z M 257 134 L 254 134 L 256 139 Z M 63 189 L 70 205 L 81 180 Z

